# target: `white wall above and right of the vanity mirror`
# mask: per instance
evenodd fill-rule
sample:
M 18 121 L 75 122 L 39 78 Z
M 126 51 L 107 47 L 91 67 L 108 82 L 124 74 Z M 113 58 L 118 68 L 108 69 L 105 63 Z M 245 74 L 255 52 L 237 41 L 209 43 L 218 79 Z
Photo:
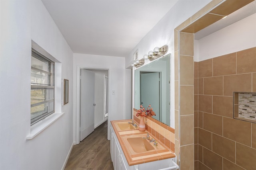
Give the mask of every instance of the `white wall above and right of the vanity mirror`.
M 174 29 L 190 16 L 206 6 L 211 0 L 179 0 L 174 7 L 160 20 L 153 29 L 134 47 L 126 57 L 126 67 L 132 64 L 133 53 L 138 49 L 138 58 L 148 54 L 155 47 L 168 45 L 171 53 L 171 122 L 174 128 Z M 167 54 L 168 54 L 167 53 Z M 149 61 L 146 61 L 147 63 Z

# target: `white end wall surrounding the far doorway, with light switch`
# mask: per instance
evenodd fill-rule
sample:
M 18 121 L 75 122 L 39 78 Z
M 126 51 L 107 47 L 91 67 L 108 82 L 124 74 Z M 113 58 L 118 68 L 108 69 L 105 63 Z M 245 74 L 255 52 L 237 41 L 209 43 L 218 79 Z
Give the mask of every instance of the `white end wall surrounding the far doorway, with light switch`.
M 79 68 L 96 68 L 108 69 L 109 81 L 109 107 L 108 107 L 108 124 L 111 120 L 125 119 L 124 111 L 124 75 L 125 75 L 125 59 L 123 57 L 110 57 L 100 55 L 86 55 L 74 53 L 74 126 L 78 120 L 79 109 Z M 112 90 L 115 90 L 115 95 L 112 95 Z M 78 95 L 77 95 L 78 94 Z M 79 123 L 79 122 L 78 122 Z M 78 125 L 78 124 L 77 124 Z M 108 126 L 108 139 L 110 139 Z M 78 142 L 77 130 L 74 128 L 74 141 Z

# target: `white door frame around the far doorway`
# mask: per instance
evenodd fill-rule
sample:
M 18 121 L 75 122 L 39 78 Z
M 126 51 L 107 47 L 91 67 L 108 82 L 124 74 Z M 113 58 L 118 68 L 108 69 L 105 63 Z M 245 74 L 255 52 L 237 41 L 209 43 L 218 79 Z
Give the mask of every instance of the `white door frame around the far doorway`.
M 74 114 L 74 130 L 75 130 L 75 144 L 80 143 L 80 70 L 81 69 L 95 69 L 95 70 L 108 70 L 108 87 L 110 89 L 110 69 L 109 68 L 90 68 L 90 67 L 82 67 L 82 66 L 77 66 L 76 68 L 76 108 L 74 108 L 75 114 Z M 110 90 L 108 89 L 108 93 L 110 93 Z M 75 88 L 74 88 L 75 90 Z M 109 95 L 108 95 L 108 109 L 109 109 Z M 110 113 L 108 113 L 108 119 L 110 119 Z M 108 123 L 109 124 L 109 123 Z M 108 125 L 109 126 L 109 125 Z

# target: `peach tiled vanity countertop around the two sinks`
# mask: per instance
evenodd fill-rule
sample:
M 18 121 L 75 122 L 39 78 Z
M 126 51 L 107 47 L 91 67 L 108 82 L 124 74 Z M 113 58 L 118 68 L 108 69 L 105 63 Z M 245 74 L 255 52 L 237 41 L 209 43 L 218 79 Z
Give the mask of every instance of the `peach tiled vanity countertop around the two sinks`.
M 118 126 L 118 124 L 120 123 L 128 123 L 128 122 L 132 122 L 132 119 L 111 121 L 111 124 L 116 133 L 116 136 L 122 147 L 122 150 L 124 152 L 124 155 L 126 157 L 126 160 L 129 166 L 175 157 L 175 154 L 171 150 L 169 150 L 162 142 L 158 141 L 147 130 L 144 132 L 139 131 L 138 128 L 121 130 L 120 127 Z M 154 146 L 154 142 L 152 142 L 152 143 L 149 143 L 151 146 L 148 146 L 148 147 L 154 147 L 153 150 L 148 150 L 148 151 L 145 150 L 145 152 L 140 152 L 140 153 L 135 152 L 134 149 L 130 147 L 130 144 L 127 139 L 129 138 L 131 139 L 132 137 L 147 137 L 147 132 L 149 133 L 150 138 L 153 138 L 156 140 L 156 142 L 158 143 L 158 146 Z

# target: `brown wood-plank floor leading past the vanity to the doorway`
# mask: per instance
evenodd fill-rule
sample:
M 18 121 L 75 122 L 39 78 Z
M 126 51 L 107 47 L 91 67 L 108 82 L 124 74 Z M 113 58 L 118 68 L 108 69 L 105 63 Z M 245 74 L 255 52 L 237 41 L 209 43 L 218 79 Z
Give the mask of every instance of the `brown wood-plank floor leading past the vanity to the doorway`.
M 74 145 L 65 170 L 113 170 L 107 131 L 108 121 L 105 121 L 78 145 Z

